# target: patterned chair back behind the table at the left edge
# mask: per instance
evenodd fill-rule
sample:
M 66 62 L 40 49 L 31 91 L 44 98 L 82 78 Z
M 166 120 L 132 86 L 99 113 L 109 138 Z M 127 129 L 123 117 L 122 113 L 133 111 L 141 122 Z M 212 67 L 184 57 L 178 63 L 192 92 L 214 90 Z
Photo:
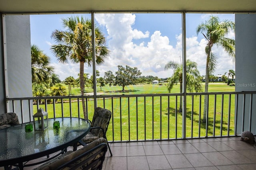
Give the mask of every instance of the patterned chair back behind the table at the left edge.
M 0 114 L 0 129 L 19 124 L 20 122 L 16 113 L 9 112 Z

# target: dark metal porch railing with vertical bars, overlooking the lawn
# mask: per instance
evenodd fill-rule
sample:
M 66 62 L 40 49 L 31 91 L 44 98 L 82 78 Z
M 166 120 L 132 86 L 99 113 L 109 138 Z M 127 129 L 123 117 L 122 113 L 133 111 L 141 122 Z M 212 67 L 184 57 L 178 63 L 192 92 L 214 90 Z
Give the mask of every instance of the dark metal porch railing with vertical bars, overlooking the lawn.
M 187 93 L 186 107 L 180 101 L 184 94 L 136 94 L 96 96 L 97 106 L 109 109 L 112 118 L 108 127 L 109 141 L 145 141 L 223 137 L 255 130 L 253 111 L 256 92 Z M 32 120 L 38 108 L 48 117 L 86 117 L 94 113 L 93 96 L 51 96 L 7 98 L 8 111 L 16 112 L 22 123 Z M 182 98 L 182 100 L 180 100 Z M 204 107 L 204 98 L 207 98 Z M 182 109 L 186 117 L 182 116 Z M 206 112 L 204 112 L 206 110 Z M 205 114 L 204 114 L 205 113 Z M 185 126 L 182 125 L 185 123 Z

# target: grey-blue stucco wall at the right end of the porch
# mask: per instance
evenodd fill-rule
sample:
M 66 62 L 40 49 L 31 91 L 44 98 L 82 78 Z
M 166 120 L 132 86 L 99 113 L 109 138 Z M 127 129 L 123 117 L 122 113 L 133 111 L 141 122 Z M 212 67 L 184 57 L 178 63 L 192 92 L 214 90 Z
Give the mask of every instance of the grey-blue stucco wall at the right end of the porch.
M 236 14 L 235 18 L 236 92 L 256 91 L 256 14 Z M 237 102 L 237 134 L 243 130 L 256 134 L 256 95 L 239 95 Z

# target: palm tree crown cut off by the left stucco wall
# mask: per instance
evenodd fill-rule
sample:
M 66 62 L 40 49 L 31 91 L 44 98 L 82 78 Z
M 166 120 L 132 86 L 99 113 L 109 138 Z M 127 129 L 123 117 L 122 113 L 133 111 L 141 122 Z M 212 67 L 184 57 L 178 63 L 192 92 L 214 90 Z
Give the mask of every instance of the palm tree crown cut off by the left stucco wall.
M 54 71 L 50 66 L 50 57 L 43 53 L 38 46 L 31 46 L 32 83 L 47 82 Z

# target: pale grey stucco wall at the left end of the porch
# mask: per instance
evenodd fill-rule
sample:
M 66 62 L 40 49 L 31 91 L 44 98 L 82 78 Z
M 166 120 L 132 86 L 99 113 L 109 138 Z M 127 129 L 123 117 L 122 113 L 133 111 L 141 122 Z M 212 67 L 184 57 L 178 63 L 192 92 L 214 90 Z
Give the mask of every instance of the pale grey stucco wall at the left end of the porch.
M 5 81 L 8 84 L 7 98 L 32 97 L 31 78 L 31 44 L 30 44 L 30 16 L 6 15 L 6 60 L 7 67 Z M 29 121 L 28 101 L 15 103 L 14 110 L 23 122 Z M 8 103 L 7 111 L 12 110 L 12 103 Z

